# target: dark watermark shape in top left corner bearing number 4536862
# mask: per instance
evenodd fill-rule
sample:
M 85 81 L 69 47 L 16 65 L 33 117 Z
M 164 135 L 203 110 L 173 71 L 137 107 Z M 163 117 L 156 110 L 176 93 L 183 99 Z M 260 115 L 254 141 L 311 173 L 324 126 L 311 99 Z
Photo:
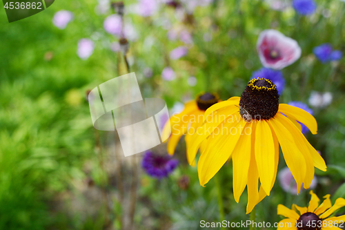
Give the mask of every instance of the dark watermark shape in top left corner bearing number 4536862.
M 55 0 L 2 0 L 8 22 L 25 19 L 46 10 Z

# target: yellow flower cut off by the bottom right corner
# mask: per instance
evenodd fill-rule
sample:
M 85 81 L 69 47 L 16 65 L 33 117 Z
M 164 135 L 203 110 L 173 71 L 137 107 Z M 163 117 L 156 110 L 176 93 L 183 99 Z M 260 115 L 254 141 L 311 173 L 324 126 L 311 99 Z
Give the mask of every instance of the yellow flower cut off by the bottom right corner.
M 288 209 L 282 204 L 278 205 L 278 215 L 284 215 L 284 219 L 278 223 L 278 230 L 330 230 L 345 227 L 345 215 L 329 217 L 345 206 L 345 199 L 337 198 L 332 206 L 330 195 L 324 196 L 325 200 L 319 205 L 319 198 L 311 191 L 311 201 L 307 207 L 298 207 L 293 204 Z

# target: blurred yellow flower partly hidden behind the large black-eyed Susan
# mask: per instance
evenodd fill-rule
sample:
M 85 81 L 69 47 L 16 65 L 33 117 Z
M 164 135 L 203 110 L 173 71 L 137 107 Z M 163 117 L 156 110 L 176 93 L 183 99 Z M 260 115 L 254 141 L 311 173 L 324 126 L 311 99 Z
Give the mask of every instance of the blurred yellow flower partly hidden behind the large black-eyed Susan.
M 194 133 L 196 128 L 203 124 L 206 109 L 210 108 L 210 106 L 213 106 L 217 102 L 219 102 L 219 96 L 217 94 L 201 93 L 197 95 L 195 100 L 187 102 L 184 105 L 184 111 L 177 115 L 173 115 L 170 118 L 171 135 L 170 139 L 168 140 L 168 153 L 170 155 L 174 154 L 177 143 L 184 134 L 186 134 L 185 140 L 186 144 L 188 145 L 190 133 Z M 168 122 L 166 126 L 164 126 L 163 136 L 166 136 L 168 133 L 167 125 Z M 188 160 L 190 160 L 189 157 Z M 192 164 L 193 160 L 191 160 L 189 163 Z

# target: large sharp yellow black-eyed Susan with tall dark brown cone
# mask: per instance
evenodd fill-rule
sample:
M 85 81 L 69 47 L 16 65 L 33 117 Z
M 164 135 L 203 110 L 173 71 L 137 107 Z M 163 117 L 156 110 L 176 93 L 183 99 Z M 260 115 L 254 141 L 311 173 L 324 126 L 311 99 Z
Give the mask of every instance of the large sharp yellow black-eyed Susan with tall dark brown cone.
M 311 185 L 314 167 L 326 171 L 324 160 L 297 123 L 305 124 L 315 134 L 315 118 L 301 108 L 279 104 L 277 87 L 268 79 L 250 80 L 241 97 L 211 106 L 204 117 L 205 124 L 190 137 L 187 156 L 193 159 L 201 143 L 206 142 L 197 166 L 201 186 L 231 157 L 234 197 L 239 202 L 247 186 L 247 213 L 270 195 L 277 176 L 279 145 L 297 183 L 297 193 L 302 184 L 304 188 Z

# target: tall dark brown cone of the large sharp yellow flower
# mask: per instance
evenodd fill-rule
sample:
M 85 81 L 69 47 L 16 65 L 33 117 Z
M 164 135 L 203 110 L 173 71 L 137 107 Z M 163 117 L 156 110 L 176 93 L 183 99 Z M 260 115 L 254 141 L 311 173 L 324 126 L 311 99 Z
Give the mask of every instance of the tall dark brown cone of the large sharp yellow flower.
M 277 86 L 268 79 L 253 79 L 248 82 L 239 100 L 239 114 L 248 121 L 270 119 L 279 108 Z M 250 116 L 249 116 L 250 115 Z

